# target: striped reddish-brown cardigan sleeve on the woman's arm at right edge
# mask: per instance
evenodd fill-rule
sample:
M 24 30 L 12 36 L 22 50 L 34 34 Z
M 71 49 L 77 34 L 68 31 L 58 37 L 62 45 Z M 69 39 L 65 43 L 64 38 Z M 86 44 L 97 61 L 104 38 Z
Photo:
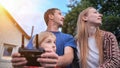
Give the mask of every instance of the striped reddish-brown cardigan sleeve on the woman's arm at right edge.
M 103 64 L 99 68 L 119 68 L 120 67 L 120 49 L 116 37 L 106 32 L 103 44 Z

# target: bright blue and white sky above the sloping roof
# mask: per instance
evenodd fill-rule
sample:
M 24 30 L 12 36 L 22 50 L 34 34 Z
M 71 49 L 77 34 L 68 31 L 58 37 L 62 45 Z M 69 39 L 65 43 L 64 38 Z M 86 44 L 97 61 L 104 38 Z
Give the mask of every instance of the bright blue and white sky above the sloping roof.
M 46 30 L 44 12 L 49 8 L 59 8 L 67 13 L 70 0 L 0 0 L 0 4 L 7 9 L 24 31 L 31 36 Z

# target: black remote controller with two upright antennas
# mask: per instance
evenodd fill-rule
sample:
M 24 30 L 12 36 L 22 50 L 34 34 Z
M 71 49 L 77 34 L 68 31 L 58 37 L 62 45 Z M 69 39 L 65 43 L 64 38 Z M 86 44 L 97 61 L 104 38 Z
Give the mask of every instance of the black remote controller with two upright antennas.
M 43 48 L 38 48 L 38 36 L 36 36 L 36 49 L 27 49 L 24 47 L 24 36 L 22 36 L 22 47 L 19 48 L 19 53 L 27 60 L 27 66 L 41 66 L 37 62 L 37 58 L 45 52 Z

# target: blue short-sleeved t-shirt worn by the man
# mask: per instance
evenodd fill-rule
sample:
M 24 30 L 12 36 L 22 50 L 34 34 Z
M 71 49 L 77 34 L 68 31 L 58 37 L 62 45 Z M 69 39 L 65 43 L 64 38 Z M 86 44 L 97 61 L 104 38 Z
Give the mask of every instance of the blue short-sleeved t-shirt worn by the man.
M 56 36 L 56 53 L 59 56 L 64 55 L 64 48 L 66 46 L 70 46 L 73 49 L 76 49 L 76 43 L 75 43 L 75 39 L 73 38 L 72 35 L 69 34 L 65 34 L 62 32 L 52 32 L 55 36 Z M 32 40 L 33 38 L 31 38 L 31 40 L 29 41 L 27 48 L 32 49 L 33 48 L 33 44 L 32 44 Z M 70 67 L 68 67 L 70 68 Z

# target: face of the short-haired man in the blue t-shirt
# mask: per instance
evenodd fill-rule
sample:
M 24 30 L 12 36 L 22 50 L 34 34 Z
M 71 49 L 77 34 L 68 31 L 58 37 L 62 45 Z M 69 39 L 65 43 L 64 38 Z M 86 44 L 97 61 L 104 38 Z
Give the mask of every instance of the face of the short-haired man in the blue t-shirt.
M 59 10 L 55 10 L 53 21 L 55 24 L 58 24 L 58 26 L 63 26 L 64 16 Z

